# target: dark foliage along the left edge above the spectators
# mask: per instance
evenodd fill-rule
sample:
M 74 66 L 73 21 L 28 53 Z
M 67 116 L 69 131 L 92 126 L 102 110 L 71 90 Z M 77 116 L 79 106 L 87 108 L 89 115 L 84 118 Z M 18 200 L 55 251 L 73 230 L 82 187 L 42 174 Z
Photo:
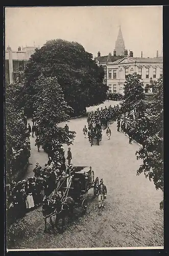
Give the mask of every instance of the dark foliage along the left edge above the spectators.
M 30 157 L 27 119 L 21 110 L 23 84 L 6 85 L 6 173 L 7 182 L 21 171 Z

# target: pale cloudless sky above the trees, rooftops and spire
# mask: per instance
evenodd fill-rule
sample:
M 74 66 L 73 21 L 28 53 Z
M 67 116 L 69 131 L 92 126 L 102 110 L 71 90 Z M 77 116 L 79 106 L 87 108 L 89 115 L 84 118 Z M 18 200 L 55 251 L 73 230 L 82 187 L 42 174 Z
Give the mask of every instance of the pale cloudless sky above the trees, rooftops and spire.
M 134 57 L 162 54 L 162 6 L 6 7 L 5 44 L 17 50 L 61 38 L 103 56 L 113 54 L 119 25 Z

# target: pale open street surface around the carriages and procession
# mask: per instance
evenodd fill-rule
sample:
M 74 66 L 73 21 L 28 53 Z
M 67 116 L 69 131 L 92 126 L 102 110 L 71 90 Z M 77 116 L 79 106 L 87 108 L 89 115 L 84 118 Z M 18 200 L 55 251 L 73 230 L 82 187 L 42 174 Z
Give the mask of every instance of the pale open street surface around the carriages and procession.
M 30 124 L 32 126 L 31 121 Z M 110 140 L 105 130 L 100 146 L 94 141 L 92 147 L 82 133 L 84 125 L 87 126 L 85 117 L 71 119 L 67 124 L 70 131 L 77 133 L 74 145 L 70 145 L 72 163 L 91 165 L 94 179 L 103 178 L 107 187 L 105 207 L 98 208 L 98 199 L 93 198 L 93 189 L 90 189 L 86 195 L 86 215 L 81 216 L 80 209 L 76 208 L 75 218 L 63 234 L 43 233 L 39 207 L 12 225 L 15 249 L 163 246 L 163 211 L 159 209 L 162 192 L 143 174 L 136 176 L 141 161 L 136 160 L 135 152 L 140 146 L 135 142 L 129 144 L 128 137 L 117 132 L 116 122 L 110 125 Z M 42 148 L 37 152 L 35 138 L 30 137 L 32 165 L 24 178 L 33 176 L 36 162 L 44 166 L 48 160 Z M 64 145 L 64 149 L 67 156 L 68 146 Z

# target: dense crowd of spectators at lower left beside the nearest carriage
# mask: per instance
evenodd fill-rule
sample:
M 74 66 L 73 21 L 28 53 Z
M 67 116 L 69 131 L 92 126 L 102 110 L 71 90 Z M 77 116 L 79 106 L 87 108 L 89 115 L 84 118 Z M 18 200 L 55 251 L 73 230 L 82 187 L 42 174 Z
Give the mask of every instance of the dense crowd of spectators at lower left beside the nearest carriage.
M 60 166 L 60 167 L 58 167 Z M 73 172 L 73 165 L 61 168 L 51 158 L 41 167 L 36 163 L 34 177 L 7 185 L 7 221 L 8 224 L 23 218 L 27 212 L 42 204 L 44 196 L 48 197 L 66 176 Z

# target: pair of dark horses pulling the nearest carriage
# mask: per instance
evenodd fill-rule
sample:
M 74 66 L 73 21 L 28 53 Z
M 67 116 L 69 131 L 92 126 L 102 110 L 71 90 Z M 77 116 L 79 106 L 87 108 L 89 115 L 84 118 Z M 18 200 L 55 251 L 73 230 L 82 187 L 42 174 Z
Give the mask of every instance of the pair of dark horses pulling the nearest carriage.
M 55 227 L 58 229 L 58 220 L 62 219 L 62 230 L 65 226 L 65 217 L 73 217 L 75 201 L 71 197 L 65 197 L 61 200 L 60 196 L 55 194 L 53 198 L 43 198 L 42 214 L 44 218 L 44 232 L 47 232 L 47 219 L 50 219 L 53 232 Z M 52 221 L 52 217 L 55 216 L 55 225 Z

